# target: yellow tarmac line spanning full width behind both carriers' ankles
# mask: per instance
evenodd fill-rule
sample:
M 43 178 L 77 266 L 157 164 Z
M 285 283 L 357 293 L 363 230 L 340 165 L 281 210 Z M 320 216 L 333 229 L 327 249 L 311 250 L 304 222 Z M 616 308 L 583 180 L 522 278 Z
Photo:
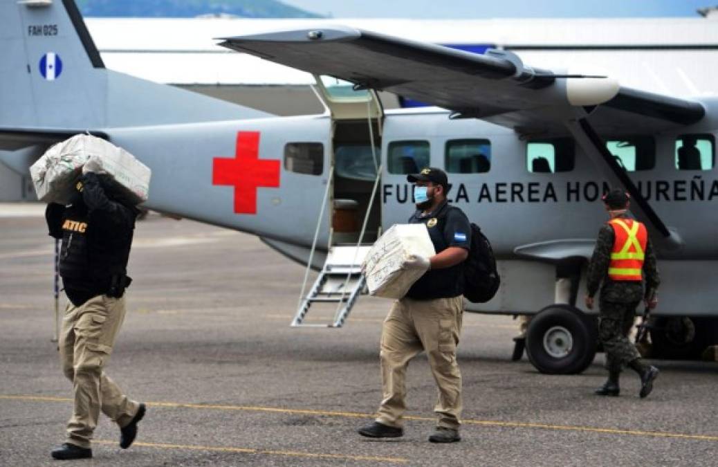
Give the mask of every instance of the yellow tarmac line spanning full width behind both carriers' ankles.
M 49 397 L 49 396 L 10 396 L 0 395 L 0 399 L 16 399 L 16 400 L 34 400 L 45 402 L 72 402 L 73 399 L 65 397 Z M 327 417 L 344 417 L 344 418 L 373 418 L 375 414 L 360 412 L 335 412 L 331 410 L 312 410 L 312 409 L 283 409 L 280 407 L 259 407 L 252 405 L 215 405 L 215 404 L 183 404 L 181 402 L 145 402 L 150 407 L 168 407 L 173 409 L 198 409 L 198 410 L 236 410 L 244 412 L 274 412 L 281 414 L 301 414 L 301 415 L 325 415 Z M 404 417 L 406 420 L 418 420 L 422 422 L 433 422 L 432 417 Z M 615 428 L 601 427 L 582 427 L 576 425 L 550 425 L 548 423 L 532 423 L 532 422 L 502 422 L 500 420 L 470 420 L 463 419 L 464 425 L 480 425 L 485 427 L 511 427 L 511 428 L 534 428 L 542 430 L 562 430 L 562 431 L 578 431 L 584 433 L 606 433 L 612 435 L 633 435 L 645 436 L 653 438 L 679 438 L 685 440 L 702 440 L 702 441 L 718 441 L 718 435 L 689 435 L 686 433 L 670 433 L 661 431 L 643 431 L 643 430 L 620 430 Z

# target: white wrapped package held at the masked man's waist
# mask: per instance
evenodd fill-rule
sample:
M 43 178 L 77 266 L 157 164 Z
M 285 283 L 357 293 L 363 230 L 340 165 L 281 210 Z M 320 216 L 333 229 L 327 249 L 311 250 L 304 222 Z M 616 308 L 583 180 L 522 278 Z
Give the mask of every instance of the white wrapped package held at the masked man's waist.
M 426 268 L 409 267 L 411 256 L 434 256 L 434 244 L 423 223 L 396 224 L 371 247 L 364 259 L 364 274 L 371 295 L 402 298 Z

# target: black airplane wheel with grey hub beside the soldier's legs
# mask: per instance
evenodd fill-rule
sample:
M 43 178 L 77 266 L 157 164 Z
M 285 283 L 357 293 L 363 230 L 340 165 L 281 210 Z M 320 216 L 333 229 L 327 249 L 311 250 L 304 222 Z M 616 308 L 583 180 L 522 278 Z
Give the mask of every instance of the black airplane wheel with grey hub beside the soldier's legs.
M 538 371 L 546 374 L 577 374 L 596 356 L 597 325 L 569 305 L 550 305 L 528 325 L 526 353 Z

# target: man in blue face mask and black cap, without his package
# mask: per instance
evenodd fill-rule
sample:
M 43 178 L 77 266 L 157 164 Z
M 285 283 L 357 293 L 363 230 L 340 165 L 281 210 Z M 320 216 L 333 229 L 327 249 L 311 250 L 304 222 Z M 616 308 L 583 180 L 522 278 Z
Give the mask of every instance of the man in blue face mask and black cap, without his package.
M 414 185 L 417 211 L 409 223 L 423 223 L 437 254 L 412 256 L 408 267 L 426 271 L 406 295 L 393 303 L 381 333 L 383 400 L 376 421 L 360 428 L 370 438 L 404 435 L 406 367 L 414 356 L 426 351 L 437 382 L 439 397 L 434 407 L 437 427 L 432 443 L 453 443 L 459 435 L 461 373 L 456 360 L 463 315 L 462 263 L 469 254 L 471 226 L 466 215 L 447 203 L 448 179 L 433 167 L 407 177 Z

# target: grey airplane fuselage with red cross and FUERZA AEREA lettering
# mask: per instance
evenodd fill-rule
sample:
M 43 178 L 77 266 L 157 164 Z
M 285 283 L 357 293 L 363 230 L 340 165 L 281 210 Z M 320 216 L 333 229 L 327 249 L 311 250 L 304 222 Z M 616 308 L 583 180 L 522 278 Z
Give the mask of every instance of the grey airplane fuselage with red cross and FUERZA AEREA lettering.
M 710 108 L 713 101 L 704 105 Z M 608 184 L 571 140 L 523 139 L 502 126 L 452 120 L 448 115 L 437 108 L 386 113 L 381 146 L 375 141 L 380 148 L 381 181 L 370 217 L 381 217 L 381 228 L 386 230 L 406 222 L 414 211 L 406 181 L 406 170 L 413 167 L 406 165 L 407 160 L 444 168 L 452 185 L 449 202 L 482 227 L 500 259 L 502 292 L 477 309 L 535 313 L 554 301 L 556 264 L 589 258 L 597 231 L 607 220 L 600 198 Z M 330 210 L 322 212 L 325 193 L 327 205 L 335 205 L 353 193 L 357 199 L 367 198 L 373 185 L 367 177 L 352 180 L 351 167 L 342 169 L 341 157 L 337 159 L 347 148 L 366 149 L 370 144 L 340 141 L 338 133 L 332 133 L 334 124 L 326 114 L 111 129 L 108 134 L 153 170 L 147 207 L 309 251 L 317 223 L 318 248 L 326 250 L 330 241 Z M 640 193 L 684 242 L 680 249 L 658 250 L 664 289 L 676 289 L 664 294 L 668 297 L 664 313 L 714 313 L 715 278 L 707 270 L 714 269 L 718 259 L 714 243 L 718 178 L 713 162 L 706 164 L 706 170 L 681 170 L 676 140 L 686 134 L 714 138 L 717 132 L 703 123 L 680 133 L 658 134 L 639 141 L 633 152 L 640 154 L 627 161 L 633 169 L 641 169 L 629 172 Z M 615 141 L 632 141 L 630 137 L 630 131 L 623 131 Z M 644 154 L 644 145 L 655 149 Z M 488 166 L 457 165 L 448 154 L 456 147 L 464 155 L 481 151 Z M 299 159 L 292 159 L 288 148 L 306 152 L 301 155 L 306 163 L 297 165 Z M 540 172 L 531 158 L 536 158 L 536 151 L 551 150 L 555 153 L 549 171 Z M 361 220 L 363 214 L 356 216 Z M 336 239 L 337 233 L 332 235 Z M 531 294 L 521 293 L 526 281 L 532 285 Z M 679 290 L 685 287 L 698 292 L 693 296 L 699 298 L 684 301 Z

